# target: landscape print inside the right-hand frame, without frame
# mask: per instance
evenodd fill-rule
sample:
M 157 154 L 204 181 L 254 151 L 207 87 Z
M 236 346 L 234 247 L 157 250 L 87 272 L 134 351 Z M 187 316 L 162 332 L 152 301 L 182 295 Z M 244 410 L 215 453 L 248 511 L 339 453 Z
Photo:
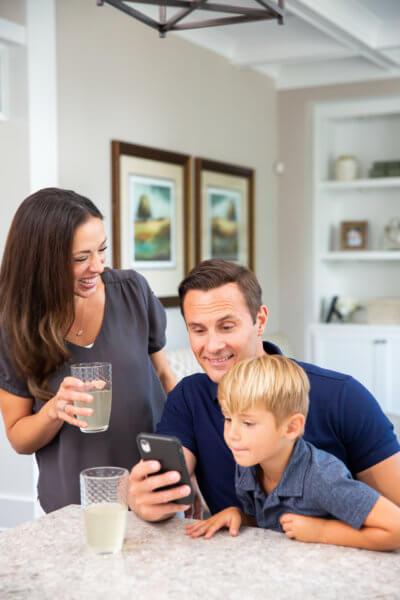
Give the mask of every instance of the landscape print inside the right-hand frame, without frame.
M 209 255 L 211 258 L 238 261 L 241 193 L 237 190 L 209 187 L 207 196 Z

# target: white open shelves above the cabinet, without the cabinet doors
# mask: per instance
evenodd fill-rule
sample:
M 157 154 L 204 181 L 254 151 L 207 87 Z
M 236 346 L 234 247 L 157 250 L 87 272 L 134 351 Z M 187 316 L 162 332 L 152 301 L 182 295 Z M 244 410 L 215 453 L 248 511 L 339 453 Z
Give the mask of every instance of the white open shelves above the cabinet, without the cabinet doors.
M 313 321 L 333 296 L 400 297 L 400 250 L 385 251 L 384 227 L 400 217 L 400 176 L 368 178 L 374 161 L 400 161 L 400 97 L 321 103 L 314 108 Z M 357 157 L 359 179 L 335 181 L 335 161 Z M 340 223 L 368 222 L 365 250 L 340 249 Z

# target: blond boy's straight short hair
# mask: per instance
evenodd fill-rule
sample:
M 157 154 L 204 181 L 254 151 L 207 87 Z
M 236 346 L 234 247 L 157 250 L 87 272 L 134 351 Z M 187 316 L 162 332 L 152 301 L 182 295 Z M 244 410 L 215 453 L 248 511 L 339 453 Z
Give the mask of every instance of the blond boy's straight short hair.
M 307 417 L 310 384 L 304 370 L 281 355 L 264 354 L 234 365 L 218 386 L 218 400 L 229 414 L 265 408 L 279 426 L 287 417 Z

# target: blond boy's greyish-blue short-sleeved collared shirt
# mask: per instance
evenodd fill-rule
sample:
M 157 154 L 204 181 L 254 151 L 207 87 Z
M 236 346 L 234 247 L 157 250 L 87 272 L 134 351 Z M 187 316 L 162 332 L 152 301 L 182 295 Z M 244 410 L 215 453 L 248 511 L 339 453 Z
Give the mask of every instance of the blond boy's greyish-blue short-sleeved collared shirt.
M 379 494 L 352 478 L 347 467 L 332 454 L 299 439 L 276 488 L 266 494 L 258 480 L 259 467 L 236 466 L 235 488 L 243 511 L 259 527 L 283 531 L 284 513 L 309 517 L 334 517 L 359 529 Z

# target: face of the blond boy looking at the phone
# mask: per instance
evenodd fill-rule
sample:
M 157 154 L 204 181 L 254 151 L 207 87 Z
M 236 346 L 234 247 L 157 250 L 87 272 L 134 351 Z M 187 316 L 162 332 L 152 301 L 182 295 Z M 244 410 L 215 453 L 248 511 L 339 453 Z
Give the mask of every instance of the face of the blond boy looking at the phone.
M 234 415 L 223 413 L 225 442 L 242 467 L 262 466 L 278 457 L 287 447 L 287 422 L 277 427 L 273 414 L 268 410 L 253 408 Z

